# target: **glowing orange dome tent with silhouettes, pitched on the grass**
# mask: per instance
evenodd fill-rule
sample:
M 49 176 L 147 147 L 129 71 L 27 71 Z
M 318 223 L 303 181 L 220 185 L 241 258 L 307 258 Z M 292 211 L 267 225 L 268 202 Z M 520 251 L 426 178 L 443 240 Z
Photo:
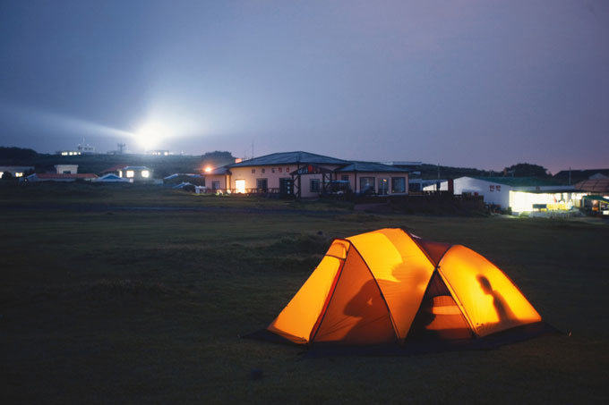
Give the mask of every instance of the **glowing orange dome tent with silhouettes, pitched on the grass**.
M 475 340 L 540 321 L 473 250 L 382 229 L 334 240 L 267 330 L 299 344 L 374 345 Z

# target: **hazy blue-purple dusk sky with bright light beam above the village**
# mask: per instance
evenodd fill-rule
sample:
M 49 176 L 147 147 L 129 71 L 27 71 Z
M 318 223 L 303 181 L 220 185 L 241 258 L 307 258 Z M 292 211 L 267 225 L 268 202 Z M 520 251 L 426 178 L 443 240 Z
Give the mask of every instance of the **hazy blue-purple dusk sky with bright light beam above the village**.
M 0 146 L 609 166 L 609 2 L 0 2 Z

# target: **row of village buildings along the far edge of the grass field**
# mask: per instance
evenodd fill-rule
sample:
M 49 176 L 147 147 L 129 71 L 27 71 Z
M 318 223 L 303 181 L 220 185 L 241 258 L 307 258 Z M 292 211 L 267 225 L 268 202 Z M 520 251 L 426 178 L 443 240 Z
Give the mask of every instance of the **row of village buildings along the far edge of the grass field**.
M 416 201 L 417 197 L 424 197 L 429 201 L 429 196 L 442 196 L 477 200 L 493 212 L 511 215 L 581 215 L 584 212 L 609 216 L 609 169 L 563 170 L 553 176 L 522 176 L 512 170 L 452 178 L 441 178 L 438 170 L 436 179 L 424 179 L 421 162 L 351 161 L 296 151 L 231 158 L 227 164 L 193 167 L 189 173 L 155 175 L 154 163 L 150 166 L 130 164 L 129 159 L 135 155 L 124 153 L 124 144 L 118 147 L 113 154 L 124 157 L 125 163 L 99 173 L 81 173 L 79 165 L 69 162 L 76 156 L 94 155 L 94 148 L 83 144 L 74 150 L 57 151 L 53 171 L 40 171 L 33 165 L 3 165 L 0 159 L 0 179 L 20 183 L 150 184 L 197 194 L 277 198 L 368 198 L 369 201 L 409 198 Z M 148 155 L 158 159 L 174 156 L 168 150 L 153 150 Z

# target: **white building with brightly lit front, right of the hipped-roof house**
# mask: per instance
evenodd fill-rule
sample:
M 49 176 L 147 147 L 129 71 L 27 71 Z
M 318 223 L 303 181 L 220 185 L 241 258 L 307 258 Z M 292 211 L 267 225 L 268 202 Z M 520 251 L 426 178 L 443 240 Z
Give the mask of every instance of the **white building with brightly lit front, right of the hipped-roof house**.
M 440 190 L 449 190 L 449 183 L 442 181 Z M 585 195 L 575 186 L 536 177 L 464 176 L 454 179 L 452 186 L 456 195 L 480 195 L 486 204 L 511 208 L 514 213 L 580 207 L 581 198 Z

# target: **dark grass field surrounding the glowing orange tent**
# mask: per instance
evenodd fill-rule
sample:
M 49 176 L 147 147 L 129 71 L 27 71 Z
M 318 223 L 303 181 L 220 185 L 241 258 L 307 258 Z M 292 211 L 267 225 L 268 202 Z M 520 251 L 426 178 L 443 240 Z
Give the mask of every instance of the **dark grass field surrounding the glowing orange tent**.
M 112 190 L 0 188 L 4 403 L 584 403 L 609 394 L 606 222 Z M 235 210 L 113 208 L 219 205 Z M 572 335 L 328 359 L 240 338 L 279 314 L 331 238 L 382 227 L 477 250 Z M 253 368 L 262 379 L 250 379 Z

